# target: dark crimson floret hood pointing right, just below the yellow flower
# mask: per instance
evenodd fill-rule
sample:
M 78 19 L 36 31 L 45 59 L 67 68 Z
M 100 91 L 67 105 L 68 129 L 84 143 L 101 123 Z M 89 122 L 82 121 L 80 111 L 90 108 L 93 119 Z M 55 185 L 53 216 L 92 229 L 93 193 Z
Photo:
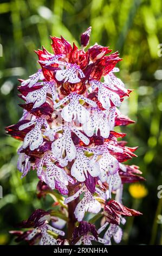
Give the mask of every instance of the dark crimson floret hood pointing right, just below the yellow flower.
M 106 216 L 106 221 L 112 224 L 120 224 L 120 215 L 123 216 L 139 216 L 142 215 L 141 212 L 129 209 L 126 206 L 116 202 L 115 200 L 110 200 L 103 210 L 103 214 Z

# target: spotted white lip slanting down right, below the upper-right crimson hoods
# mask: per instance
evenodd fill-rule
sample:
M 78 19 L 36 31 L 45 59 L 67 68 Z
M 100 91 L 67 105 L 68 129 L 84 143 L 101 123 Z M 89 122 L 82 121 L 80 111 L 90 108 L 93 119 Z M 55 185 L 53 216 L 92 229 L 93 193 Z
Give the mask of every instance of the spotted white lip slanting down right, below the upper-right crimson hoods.
M 111 88 L 111 86 L 108 86 L 108 84 L 104 84 L 96 80 L 90 81 L 90 84 L 92 84 L 93 88 L 95 86 L 98 87 L 98 100 L 101 102 L 103 108 L 108 109 L 109 107 L 111 107 L 111 102 L 114 106 L 120 107 L 121 101 L 120 96 L 118 95 L 118 91 L 112 92 L 111 90 L 114 87 Z

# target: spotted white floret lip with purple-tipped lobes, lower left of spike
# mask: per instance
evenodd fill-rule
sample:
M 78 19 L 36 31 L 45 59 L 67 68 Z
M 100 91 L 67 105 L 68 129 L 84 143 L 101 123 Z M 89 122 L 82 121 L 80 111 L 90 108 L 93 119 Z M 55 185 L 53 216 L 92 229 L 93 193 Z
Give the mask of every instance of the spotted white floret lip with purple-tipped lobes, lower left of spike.
M 51 189 L 57 189 L 62 194 L 67 194 L 68 189 L 68 176 L 66 171 L 53 162 L 55 160 L 54 156 L 50 152 L 43 154 L 41 159 L 37 159 L 37 175 L 44 181 Z M 43 169 L 46 166 L 46 171 Z

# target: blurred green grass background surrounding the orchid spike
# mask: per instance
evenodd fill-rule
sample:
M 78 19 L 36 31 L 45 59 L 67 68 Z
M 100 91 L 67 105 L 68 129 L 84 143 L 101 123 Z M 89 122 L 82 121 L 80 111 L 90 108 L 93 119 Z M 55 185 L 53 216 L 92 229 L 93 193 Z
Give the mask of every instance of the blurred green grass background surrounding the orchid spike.
M 119 50 L 120 78 L 134 89 L 121 107 L 137 123 L 123 127 L 128 145 L 139 146 L 137 164 L 146 181 L 133 193 L 125 185 L 124 204 L 143 213 L 128 218 L 122 244 L 162 245 L 162 2 L 161 0 L 10 0 L 0 1 L 0 245 L 15 244 L 8 233 L 36 208 L 48 209 L 51 200 L 36 197 L 34 172 L 20 179 L 16 150 L 20 145 L 4 134 L 4 127 L 17 123 L 22 109 L 17 97 L 17 78 L 27 78 L 38 68 L 33 50 L 44 45 L 51 51 L 49 35 L 63 35 L 79 45 L 80 34 L 92 26 L 90 45 Z M 132 197 L 133 196 L 133 197 Z

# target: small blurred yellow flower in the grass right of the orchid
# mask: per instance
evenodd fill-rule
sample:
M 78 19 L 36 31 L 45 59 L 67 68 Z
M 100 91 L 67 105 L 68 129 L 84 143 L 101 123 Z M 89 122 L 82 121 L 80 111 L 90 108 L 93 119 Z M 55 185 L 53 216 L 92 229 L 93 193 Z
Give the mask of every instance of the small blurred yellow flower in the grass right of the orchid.
M 140 199 L 147 196 L 148 190 L 144 185 L 131 184 L 129 186 L 129 193 L 131 194 L 132 197 Z

